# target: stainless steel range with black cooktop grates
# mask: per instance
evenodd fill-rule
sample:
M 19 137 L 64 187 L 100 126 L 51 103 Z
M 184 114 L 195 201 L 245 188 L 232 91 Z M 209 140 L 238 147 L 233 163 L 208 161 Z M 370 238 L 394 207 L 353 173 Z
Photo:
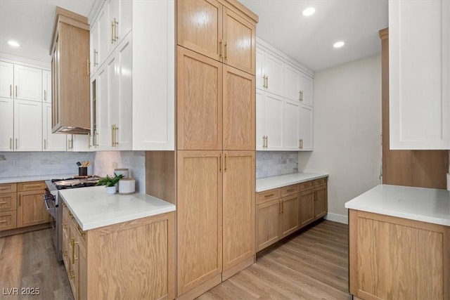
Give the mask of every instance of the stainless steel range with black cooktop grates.
M 63 260 L 63 205 L 60 203 L 61 200 L 58 190 L 94 186 L 97 184 L 98 179 L 97 176 L 79 176 L 75 178 L 51 179 L 45 181 L 47 188 L 44 195 L 44 201 L 47 211 L 52 217 L 52 237 L 58 261 Z

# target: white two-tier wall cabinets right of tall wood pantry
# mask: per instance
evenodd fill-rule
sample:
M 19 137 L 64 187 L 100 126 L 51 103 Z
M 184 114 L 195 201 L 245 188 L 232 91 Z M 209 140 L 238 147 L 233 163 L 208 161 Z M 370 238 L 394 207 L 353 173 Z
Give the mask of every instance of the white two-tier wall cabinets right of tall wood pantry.
M 314 72 L 257 39 L 256 146 L 313 150 Z

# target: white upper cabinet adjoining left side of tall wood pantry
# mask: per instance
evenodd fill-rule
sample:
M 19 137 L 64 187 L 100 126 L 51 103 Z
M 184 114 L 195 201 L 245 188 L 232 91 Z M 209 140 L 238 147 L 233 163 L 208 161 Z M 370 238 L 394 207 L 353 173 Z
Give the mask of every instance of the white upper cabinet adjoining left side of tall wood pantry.
M 106 0 L 91 22 L 97 150 L 174 150 L 174 9 L 174 0 Z

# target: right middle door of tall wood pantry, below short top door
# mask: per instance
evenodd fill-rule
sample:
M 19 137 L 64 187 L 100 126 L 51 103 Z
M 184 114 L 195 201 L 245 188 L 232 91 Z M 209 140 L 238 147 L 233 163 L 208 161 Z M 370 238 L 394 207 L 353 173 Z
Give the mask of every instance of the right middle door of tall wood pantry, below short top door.
M 255 150 L 255 76 L 224 65 L 223 148 Z

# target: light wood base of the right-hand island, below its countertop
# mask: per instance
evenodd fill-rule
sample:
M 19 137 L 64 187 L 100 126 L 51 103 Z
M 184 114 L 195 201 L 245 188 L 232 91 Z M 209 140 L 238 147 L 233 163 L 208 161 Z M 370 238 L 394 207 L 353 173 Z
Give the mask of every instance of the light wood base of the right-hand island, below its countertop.
M 349 209 L 349 292 L 449 299 L 450 227 Z

